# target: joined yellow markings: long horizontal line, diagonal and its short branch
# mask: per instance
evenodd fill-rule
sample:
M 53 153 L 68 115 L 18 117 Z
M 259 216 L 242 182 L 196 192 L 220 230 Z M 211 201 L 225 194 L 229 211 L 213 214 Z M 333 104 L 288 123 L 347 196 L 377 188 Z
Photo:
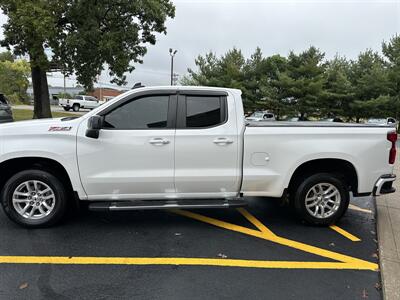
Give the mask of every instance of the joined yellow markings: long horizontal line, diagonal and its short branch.
M 240 232 L 297 250 L 305 251 L 336 262 L 268 261 L 189 257 L 67 257 L 67 256 L 0 256 L 0 264 L 62 264 L 62 265 L 184 265 L 217 266 L 265 269 L 349 269 L 377 270 L 378 265 L 365 260 L 325 250 L 275 235 L 245 209 L 239 212 L 260 231 L 224 222 L 197 213 L 173 210 L 172 212 L 227 230 Z

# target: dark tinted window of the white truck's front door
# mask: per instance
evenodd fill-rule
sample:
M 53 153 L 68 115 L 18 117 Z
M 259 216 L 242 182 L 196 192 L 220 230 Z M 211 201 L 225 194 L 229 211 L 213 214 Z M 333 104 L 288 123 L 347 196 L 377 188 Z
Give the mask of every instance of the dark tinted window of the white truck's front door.
M 104 127 L 113 129 L 166 128 L 169 96 L 134 99 L 104 117 Z

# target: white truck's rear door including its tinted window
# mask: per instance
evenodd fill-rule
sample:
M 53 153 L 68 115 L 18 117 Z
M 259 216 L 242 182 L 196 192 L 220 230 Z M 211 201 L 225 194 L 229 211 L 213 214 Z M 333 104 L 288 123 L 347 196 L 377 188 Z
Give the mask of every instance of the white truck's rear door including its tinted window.
M 239 139 L 233 97 L 180 92 L 175 188 L 181 198 L 225 198 L 239 190 Z

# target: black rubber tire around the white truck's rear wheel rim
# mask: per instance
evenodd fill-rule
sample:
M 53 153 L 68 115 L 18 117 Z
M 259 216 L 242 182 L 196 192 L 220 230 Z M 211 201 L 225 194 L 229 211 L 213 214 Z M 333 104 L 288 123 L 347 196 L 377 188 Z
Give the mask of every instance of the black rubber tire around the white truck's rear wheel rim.
M 340 194 L 340 204 L 338 204 L 337 210 L 327 217 L 316 217 L 306 208 L 306 196 L 311 189 L 318 184 L 333 185 Z M 302 220 L 312 225 L 331 225 L 335 223 L 347 211 L 349 202 L 350 193 L 348 185 L 340 176 L 330 173 L 317 173 L 306 176 L 302 181 L 298 182 L 292 198 L 292 204 L 296 214 Z

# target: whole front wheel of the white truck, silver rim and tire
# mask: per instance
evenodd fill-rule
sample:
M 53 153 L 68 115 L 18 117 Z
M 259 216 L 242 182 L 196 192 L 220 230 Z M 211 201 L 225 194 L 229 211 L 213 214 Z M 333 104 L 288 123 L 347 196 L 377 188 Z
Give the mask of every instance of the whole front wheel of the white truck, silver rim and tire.
M 1 204 L 12 221 L 29 228 L 47 227 L 64 216 L 67 197 L 64 186 L 54 175 L 26 170 L 6 182 Z

